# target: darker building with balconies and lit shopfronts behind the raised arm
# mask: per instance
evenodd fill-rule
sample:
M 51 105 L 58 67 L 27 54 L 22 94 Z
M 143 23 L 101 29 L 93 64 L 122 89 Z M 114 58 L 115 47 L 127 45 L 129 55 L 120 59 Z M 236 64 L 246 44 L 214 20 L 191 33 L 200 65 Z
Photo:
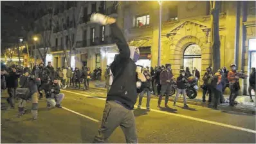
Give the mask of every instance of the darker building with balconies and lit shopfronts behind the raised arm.
M 118 50 L 111 39 L 109 26 L 91 24 L 89 19 L 94 12 L 118 13 L 115 4 L 113 1 L 64 1 L 56 4 L 54 12 L 49 10 L 35 21 L 35 31 L 40 31 L 39 46 L 43 50 L 50 41 L 48 55 L 51 58 L 48 60 L 55 68 L 67 66 L 65 51 L 74 68 L 86 65 L 91 70 L 97 67 L 105 69 L 113 61 L 113 53 Z M 48 30 L 51 32 L 46 35 Z

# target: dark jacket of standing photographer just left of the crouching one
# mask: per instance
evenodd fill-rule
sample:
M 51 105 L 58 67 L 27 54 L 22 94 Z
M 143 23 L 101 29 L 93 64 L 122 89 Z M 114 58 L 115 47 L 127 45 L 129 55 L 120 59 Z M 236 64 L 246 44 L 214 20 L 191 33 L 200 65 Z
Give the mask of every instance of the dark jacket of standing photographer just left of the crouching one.
M 19 79 L 19 84 L 23 88 L 30 89 L 30 95 L 33 95 L 33 93 L 37 93 L 37 85 L 41 85 L 41 80 L 37 78 L 31 78 L 30 76 L 21 76 Z

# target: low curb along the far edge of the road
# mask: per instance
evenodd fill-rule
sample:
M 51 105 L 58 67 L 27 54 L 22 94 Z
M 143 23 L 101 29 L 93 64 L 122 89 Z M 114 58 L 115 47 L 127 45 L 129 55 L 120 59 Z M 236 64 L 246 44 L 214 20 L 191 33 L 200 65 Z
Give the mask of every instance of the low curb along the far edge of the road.
M 106 91 L 105 88 L 101 88 L 101 87 L 90 87 L 90 88 L 100 90 L 100 91 Z M 158 96 L 151 96 L 151 98 L 158 99 Z M 162 100 L 165 100 L 165 96 L 163 96 Z M 174 98 L 169 98 L 169 102 L 174 102 Z M 183 104 L 183 100 L 178 99 L 177 102 Z M 209 105 L 207 102 L 196 102 L 196 101 L 187 100 L 187 104 L 212 108 L 212 104 Z M 218 105 L 218 108 L 221 111 L 234 111 L 234 112 L 239 112 L 239 113 L 246 113 L 246 114 L 255 115 L 255 111 L 248 110 L 248 109 L 237 109 L 236 107 L 229 107 L 229 106 L 224 106 L 224 105 Z

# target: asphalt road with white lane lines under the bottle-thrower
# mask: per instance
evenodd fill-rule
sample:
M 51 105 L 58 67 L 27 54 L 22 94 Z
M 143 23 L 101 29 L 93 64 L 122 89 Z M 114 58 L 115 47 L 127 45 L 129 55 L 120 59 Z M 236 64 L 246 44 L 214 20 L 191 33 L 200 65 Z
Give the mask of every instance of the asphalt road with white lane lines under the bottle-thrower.
M 31 115 L 17 118 L 17 109 L 1 111 L 1 143 L 91 143 L 102 119 L 105 93 L 98 90 L 62 91 L 64 109 L 47 109 L 45 99 L 39 102 L 39 119 Z M 216 111 L 207 107 L 183 104 L 172 109 L 156 107 L 151 112 L 134 109 L 139 143 L 255 143 L 255 116 Z M 164 102 L 162 102 L 163 105 Z M 137 105 L 137 104 L 136 104 Z M 30 109 L 30 105 L 28 105 Z M 71 112 L 72 111 L 72 112 Z M 125 143 L 118 128 L 109 143 Z

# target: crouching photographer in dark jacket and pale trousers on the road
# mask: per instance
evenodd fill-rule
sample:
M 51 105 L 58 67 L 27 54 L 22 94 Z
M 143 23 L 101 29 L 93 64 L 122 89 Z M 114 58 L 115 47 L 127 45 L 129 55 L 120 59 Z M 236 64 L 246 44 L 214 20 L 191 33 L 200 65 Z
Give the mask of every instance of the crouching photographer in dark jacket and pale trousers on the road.
M 62 108 L 60 104 L 63 99 L 64 99 L 64 94 L 60 93 L 60 86 L 58 84 L 58 79 L 54 78 L 53 82 L 49 84 L 48 90 L 46 92 L 47 107 Z

